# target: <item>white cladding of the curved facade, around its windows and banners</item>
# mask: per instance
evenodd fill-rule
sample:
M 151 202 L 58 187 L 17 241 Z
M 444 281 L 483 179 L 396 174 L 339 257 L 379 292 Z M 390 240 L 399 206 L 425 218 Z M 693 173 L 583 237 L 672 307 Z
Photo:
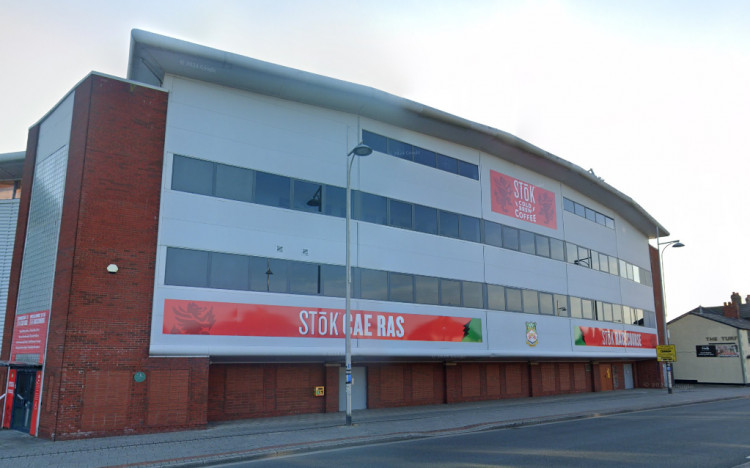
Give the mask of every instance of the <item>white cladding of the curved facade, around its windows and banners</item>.
M 359 141 L 361 129 L 387 135 L 479 165 L 480 180 L 460 177 L 392 156 L 373 153 L 357 158 L 352 188 L 397 200 L 436 207 L 570 240 L 610 255 L 620 249 L 647 253 L 647 240 L 618 239 L 619 231 L 563 211 L 564 187 L 558 181 L 521 169 L 494 156 L 382 122 L 314 108 L 221 86 L 170 76 L 164 179 L 159 220 L 156 288 L 151 352 L 158 355 L 322 355 L 339 356 L 338 338 L 278 338 L 162 333 L 165 300 L 181 299 L 236 304 L 263 304 L 341 310 L 343 298 L 228 291 L 164 285 L 168 247 L 181 247 L 304 262 L 345 263 L 344 220 L 252 203 L 171 190 L 173 155 L 180 154 L 288 177 L 346 185 L 346 154 Z M 555 194 L 557 229 L 500 215 L 491 210 L 489 171 L 495 170 Z M 586 203 L 579 197 L 577 200 Z M 594 205 L 594 204 L 592 204 Z M 617 216 L 602 212 L 620 220 Z M 569 219 L 570 218 L 570 219 Z M 570 231 L 568 231 L 570 224 Z M 617 276 L 561 261 L 480 243 L 422 234 L 389 226 L 352 222 L 352 266 L 501 284 L 595 300 L 639 306 L 628 294 L 651 294 L 651 288 Z M 628 234 L 630 235 L 630 234 Z M 588 243 L 588 244 L 587 244 Z M 622 245 L 620 245 L 622 244 Z M 628 253 L 625 258 L 637 258 Z M 642 266 L 647 266 L 643 264 Z M 632 282 L 631 282 L 632 283 Z M 636 302 L 648 302 L 638 299 Z M 383 356 L 539 356 L 654 357 L 653 349 L 582 349 L 573 342 L 580 320 L 565 317 L 352 300 L 353 310 L 394 314 L 456 316 L 480 319 L 478 343 L 355 339 L 354 354 Z M 539 344 L 526 342 L 526 322 L 539 332 Z M 588 323 L 583 321 L 584 323 Z M 653 329 L 609 322 L 588 325 L 652 333 Z

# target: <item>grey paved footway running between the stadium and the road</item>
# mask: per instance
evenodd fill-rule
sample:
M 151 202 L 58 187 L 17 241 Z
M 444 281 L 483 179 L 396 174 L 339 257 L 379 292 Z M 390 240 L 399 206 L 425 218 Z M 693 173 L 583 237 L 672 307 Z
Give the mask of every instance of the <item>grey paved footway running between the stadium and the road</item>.
M 51 442 L 0 431 L 0 467 L 195 467 L 332 449 L 750 398 L 750 387 L 678 384 L 476 403 L 305 414 L 205 429 Z

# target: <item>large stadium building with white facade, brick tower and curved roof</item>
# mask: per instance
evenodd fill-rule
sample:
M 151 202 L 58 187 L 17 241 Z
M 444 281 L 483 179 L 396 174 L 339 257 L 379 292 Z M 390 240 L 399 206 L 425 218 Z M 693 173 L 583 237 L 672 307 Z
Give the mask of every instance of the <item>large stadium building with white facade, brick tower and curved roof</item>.
M 631 198 L 500 130 L 134 30 L 126 79 L 29 131 L 3 427 L 342 411 L 350 161 L 354 409 L 662 385 L 667 231 Z

